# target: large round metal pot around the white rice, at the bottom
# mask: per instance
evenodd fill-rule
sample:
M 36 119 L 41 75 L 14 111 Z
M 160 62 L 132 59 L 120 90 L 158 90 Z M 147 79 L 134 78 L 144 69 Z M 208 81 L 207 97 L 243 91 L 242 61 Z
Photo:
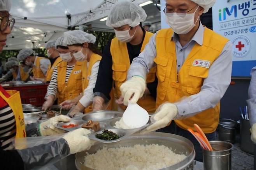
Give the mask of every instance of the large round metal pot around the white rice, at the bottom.
M 193 160 L 195 159 L 195 150 L 194 150 L 194 145 L 190 142 L 190 140 L 178 135 L 174 135 L 170 133 L 159 133 L 159 132 L 151 132 L 146 135 L 135 134 L 116 143 L 109 143 L 109 144 L 96 143 L 88 151 L 79 152 L 75 155 L 75 166 L 78 170 L 93 170 L 87 166 L 84 166 L 83 164 L 84 156 L 86 156 L 87 153 L 93 154 L 97 150 L 103 147 L 107 147 L 107 148 L 120 147 L 120 146 L 131 147 L 136 144 L 165 145 L 169 148 L 172 148 L 172 151 L 175 152 L 176 154 L 185 154 L 187 156 L 182 161 L 174 165 L 163 167 L 161 168 L 161 170 L 184 170 L 187 168 L 188 169 L 191 168 L 191 166 L 193 167 Z

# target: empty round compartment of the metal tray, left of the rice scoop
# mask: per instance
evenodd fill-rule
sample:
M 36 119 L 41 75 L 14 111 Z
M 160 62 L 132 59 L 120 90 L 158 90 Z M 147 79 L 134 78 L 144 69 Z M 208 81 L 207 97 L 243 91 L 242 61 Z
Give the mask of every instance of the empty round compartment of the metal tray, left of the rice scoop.
M 122 112 L 108 111 L 108 110 L 100 110 L 96 112 L 91 112 L 82 117 L 84 121 L 105 121 L 109 119 L 113 119 L 117 116 L 122 116 Z

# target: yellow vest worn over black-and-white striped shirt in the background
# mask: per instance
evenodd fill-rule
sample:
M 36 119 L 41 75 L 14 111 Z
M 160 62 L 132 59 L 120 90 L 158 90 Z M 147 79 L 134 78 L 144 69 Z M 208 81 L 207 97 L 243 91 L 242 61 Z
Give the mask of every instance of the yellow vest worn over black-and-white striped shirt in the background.
M 80 61 L 75 63 L 66 83 L 67 62 L 60 61 L 60 63 L 57 64 L 58 104 L 65 100 L 72 100 L 82 93 L 82 65 L 83 63 Z

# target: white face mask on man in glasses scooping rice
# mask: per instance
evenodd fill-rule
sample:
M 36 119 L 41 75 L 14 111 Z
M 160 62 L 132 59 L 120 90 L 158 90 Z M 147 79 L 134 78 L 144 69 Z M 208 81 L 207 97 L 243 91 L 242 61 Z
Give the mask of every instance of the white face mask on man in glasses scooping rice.
M 199 6 L 196 8 L 199 8 Z M 195 11 L 195 12 L 196 12 Z M 193 14 L 178 14 L 177 12 L 166 13 L 166 22 L 167 24 L 174 30 L 175 33 L 177 34 L 186 34 L 189 33 L 192 28 L 194 28 L 195 23 L 197 22 L 198 18 L 196 19 L 196 22 L 194 23 L 194 18 L 195 18 L 195 12 Z

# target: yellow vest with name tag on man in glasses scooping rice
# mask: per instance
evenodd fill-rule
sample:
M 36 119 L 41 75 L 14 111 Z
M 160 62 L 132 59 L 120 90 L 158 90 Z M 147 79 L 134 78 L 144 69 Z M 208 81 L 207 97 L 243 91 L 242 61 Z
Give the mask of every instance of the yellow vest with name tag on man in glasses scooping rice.
M 209 68 L 218 58 L 228 39 L 205 28 L 203 45 L 195 44 L 184 64 L 177 74 L 177 61 L 175 53 L 175 42 L 171 37 L 173 30 L 162 29 L 156 35 L 156 75 L 158 77 L 156 106 L 164 102 L 177 102 L 183 96 L 195 95 L 200 92 L 203 81 L 208 77 Z M 198 62 L 207 61 L 206 67 L 197 66 Z M 212 133 L 219 123 L 220 103 L 216 107 L 207 109 L 193 117 L 175 120 L 175 123 L 182 129 L 192 128 L 198 124 L 204 133 Z

